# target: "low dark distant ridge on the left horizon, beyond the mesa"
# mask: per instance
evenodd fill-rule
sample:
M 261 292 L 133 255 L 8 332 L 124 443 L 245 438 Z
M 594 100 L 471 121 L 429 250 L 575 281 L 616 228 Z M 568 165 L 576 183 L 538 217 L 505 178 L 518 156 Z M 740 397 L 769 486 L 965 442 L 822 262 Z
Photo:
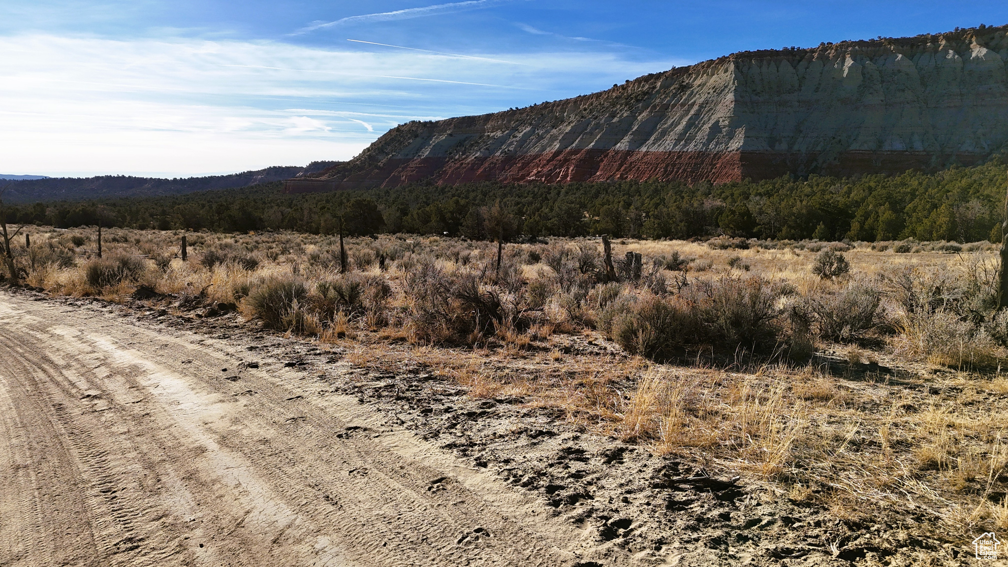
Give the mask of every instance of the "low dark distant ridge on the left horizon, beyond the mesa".
M 109 197 L 181 195 L 198 191 L 248 187 L 290 178 L 296 179 L 322 172 L 339 163 L 339 161 L 312 161 L 303 167 L 273 166 L 228 176 L 172 180 L 130 176 L 42 179 L 38 179 L 38 176 L 27 176 L 11 180 L 9 187 L 3 194 L 3 200 L 6 203 L 35 203 L 39 201 L 85 201 Z M 7 176 L 4 179 L 16 177 Z

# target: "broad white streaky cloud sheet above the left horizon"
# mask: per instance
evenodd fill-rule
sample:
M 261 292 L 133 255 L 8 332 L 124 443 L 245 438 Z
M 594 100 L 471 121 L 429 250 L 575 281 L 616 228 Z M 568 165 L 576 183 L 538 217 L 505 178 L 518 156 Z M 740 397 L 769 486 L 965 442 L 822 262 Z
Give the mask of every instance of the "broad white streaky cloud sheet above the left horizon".
M 682 63 L 478 53 L 525 64 L 514 66 L 280 42 L 51 35 L 0 36 L 0 173 L 36 175 L 184 176 L 348 159 L 408 120 L 554 100 Z

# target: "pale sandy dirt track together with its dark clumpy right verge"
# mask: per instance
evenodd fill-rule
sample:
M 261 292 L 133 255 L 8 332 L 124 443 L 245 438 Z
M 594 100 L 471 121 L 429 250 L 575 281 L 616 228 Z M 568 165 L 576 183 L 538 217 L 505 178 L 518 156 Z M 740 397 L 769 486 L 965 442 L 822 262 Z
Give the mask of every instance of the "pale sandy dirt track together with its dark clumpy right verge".
M 0 291 L 0 329 L 2 566 L 967 560 L 237 316 Z

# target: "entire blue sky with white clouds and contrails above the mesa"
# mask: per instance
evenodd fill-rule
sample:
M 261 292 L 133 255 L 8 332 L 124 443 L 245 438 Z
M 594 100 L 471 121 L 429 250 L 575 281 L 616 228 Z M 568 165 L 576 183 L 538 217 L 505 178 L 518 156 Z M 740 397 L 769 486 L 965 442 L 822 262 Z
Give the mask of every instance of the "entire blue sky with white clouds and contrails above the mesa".
M 1008 3 L 5 0 L 0 173 L 347 159 L 408 120 L 577 96 L 738 50 L 980 23 L 1008 23 Z

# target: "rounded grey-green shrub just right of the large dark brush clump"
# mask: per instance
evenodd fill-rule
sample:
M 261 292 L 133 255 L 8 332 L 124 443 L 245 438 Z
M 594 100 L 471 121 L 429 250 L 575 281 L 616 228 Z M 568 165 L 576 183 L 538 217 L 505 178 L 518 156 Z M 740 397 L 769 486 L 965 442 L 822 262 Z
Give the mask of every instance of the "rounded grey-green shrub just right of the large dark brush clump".
M 854 282 L 837 294 L 808 299 L 818 335 L 824 339 L 852 341 L 875 327 L 882 294 L 865 282 Z

